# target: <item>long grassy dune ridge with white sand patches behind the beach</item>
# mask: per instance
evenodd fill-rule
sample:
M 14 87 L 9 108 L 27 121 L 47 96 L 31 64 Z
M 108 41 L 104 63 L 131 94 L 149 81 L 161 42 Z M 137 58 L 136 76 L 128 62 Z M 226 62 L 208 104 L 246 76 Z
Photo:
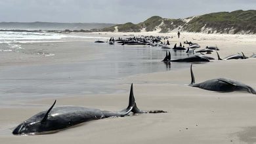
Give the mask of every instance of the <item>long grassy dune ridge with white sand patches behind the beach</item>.
M 168 33 L 179 30 L 198 33 L 255 34 L 256 10 L 215 12 L 184 19 L 152 16 L 139 24 L 129 22 L 117 24 L 116 26 L 118 26 L 118 31 L 120 32 L 158 31 L 160 33 Z M 100 31 L 115 31 L 115 26 L 105 27 Z

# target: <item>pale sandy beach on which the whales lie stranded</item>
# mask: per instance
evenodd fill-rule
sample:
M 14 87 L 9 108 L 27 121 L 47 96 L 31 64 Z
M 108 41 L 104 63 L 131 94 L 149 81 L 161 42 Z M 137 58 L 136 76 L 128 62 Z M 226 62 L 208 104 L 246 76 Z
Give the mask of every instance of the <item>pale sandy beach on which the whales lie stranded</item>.
M 180 39 L 177 38 L 176 33 L 91 33 L 90 35 L 106 37 L 168 35 L 173 36 L 173 39 L 169 39 L 171 45 L 186 40 L 198 43 L 201 48 L 217 45 L 222 58 L 237 52 L 244 52 L 246 56 L 256 52 L 256 35 L 181 33 Z M 72 46 L 72 43 L 69 45 Z M 39 58 L 36 60 L 26 54 L 12 54 L 1 62 L 1 69 L 5 69 L 7 63 L 9 66 L 45 65 L 94 60 L 95 57 L 100 56 L 98 51 L 83 51 L 82 46 L 76 49 L 75 52 L 67 55 L 62 48 L 49 48 L 47 52 L 56 56 L 51 58 L 37 56 Z M 215 52 L 209 56 L 217 58 Z M 193 70 L 196 82 L 224 77 L 256 88 L 255 67 L 256 59 L 249 58 L 194 64 Z M 190 67 L 132 75 L 119 81 L 122 84 L 116 84 L 114 88 L 125 92 L 21 99 L 19 102 L 27 106 L 0 107 L 0 143 L 256 143 L 256 97 L 253 94 L 221 93 L 192 88 L 188 86 L 191 81 Z M 120 111 L 127 107 L 131 82 L 134 84 L 137 106 L 141 110 L 163 110 L 168 113 L 94 120 L 49 135 L 18 136 L 11 133 L 13 128 L 24 120 L 48 109 L 54 99 L 57 99 L 56 106 L 79 105 Z

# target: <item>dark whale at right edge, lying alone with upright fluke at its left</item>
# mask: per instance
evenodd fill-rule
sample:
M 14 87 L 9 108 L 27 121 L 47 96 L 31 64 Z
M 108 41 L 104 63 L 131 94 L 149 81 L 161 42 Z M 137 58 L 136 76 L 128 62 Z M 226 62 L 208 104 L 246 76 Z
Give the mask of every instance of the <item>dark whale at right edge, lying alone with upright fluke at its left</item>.
M 255 90 L 242 82 L 234 81 L 226 78 L 211 79 L 198 84 L 195 84 L 194 73 L 192 71 L 192 64 L 190 66 L 191 83 L 190 86 L 202 88 L 204 90 L 212 90 L 218 92 L 233 92 L 236 90 L 245 90 L 251 94 L 256 94 Z

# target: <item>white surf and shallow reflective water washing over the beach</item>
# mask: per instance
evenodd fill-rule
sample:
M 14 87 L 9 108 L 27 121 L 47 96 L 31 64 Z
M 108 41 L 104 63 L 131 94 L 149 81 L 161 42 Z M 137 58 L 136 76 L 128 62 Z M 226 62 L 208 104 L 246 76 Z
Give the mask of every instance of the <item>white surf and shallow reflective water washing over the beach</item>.
M 12 65 L 0 70 L 0 105 L 17 105 L 14 101 L 58 96 L 86 96 L 127 92 L 114 88 L 122 79 L 142 73 L 155 73 L 189 67 L 189 63 L 164 63 L 166 50 L 151 46 L 121 46 L 94 43 L 109 39 L 104 35 L 58 33 L 0 33 L 0 52 L 26 52 L 30 43 L 71 43 L 72 48 L 92 49 L 100 53 L 95 60 L 50 63 L 43 65 Z M 35 50 L 36 51 L 36 50 Z M 54 53 L 49 58 L 54 57 Z M 184 52 L 171 51 L 172 58 L 184 58 Z M 89 54 L 86 54 L 89 55 Z M 133 82 L 133 81 L 131 81 Z M 131 83 L 129 82 L 129 83 Z

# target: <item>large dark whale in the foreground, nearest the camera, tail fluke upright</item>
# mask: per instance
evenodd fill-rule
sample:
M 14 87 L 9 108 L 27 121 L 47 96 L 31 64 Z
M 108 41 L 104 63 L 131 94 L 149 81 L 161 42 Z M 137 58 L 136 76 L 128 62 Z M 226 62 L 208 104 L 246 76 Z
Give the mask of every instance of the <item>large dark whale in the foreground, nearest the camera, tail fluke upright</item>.
M 122 111 L 101 111 L 100 109 L 77 107 L 77 106 L 62 106 L 53 108 L 48 111 L 37 113 L 33 117 L 19 124 L 12 132 L 14 135 L 36 135 L 36 134 L 51 134 L 58 132 L 70 126 L 75 126 L 83 122 L 98 120 L 108 117 L 124 117 L 130 112 L 145 113 L 140 111 L 135 103 L 133 96 L 133 84 L 129 96 L 129 106 Z

